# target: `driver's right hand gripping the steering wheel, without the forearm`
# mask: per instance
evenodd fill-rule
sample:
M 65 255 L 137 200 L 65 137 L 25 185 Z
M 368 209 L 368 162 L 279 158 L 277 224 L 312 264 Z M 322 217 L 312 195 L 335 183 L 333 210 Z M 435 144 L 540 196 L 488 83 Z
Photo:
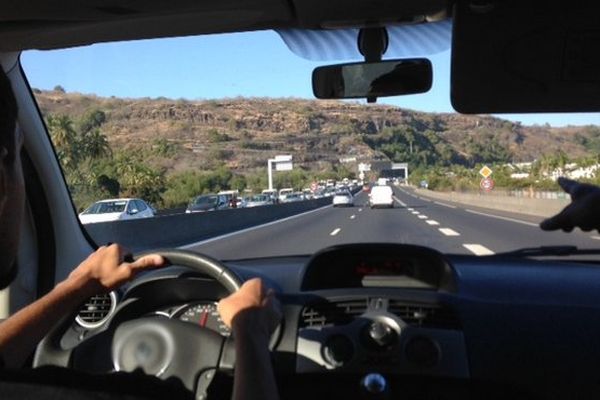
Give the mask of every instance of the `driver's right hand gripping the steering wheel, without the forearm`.
M 281 311 L 279 302 L 272 289 L 267 289 L 260 278 L 250 279 L 235 293 L 225 297 L 217 305 L 221 319 L 228 327 L 232 327 L 234 319 L 242 314 L 253 314 L 254 328 L 264 330 L 270 335 L 279 324 Z

